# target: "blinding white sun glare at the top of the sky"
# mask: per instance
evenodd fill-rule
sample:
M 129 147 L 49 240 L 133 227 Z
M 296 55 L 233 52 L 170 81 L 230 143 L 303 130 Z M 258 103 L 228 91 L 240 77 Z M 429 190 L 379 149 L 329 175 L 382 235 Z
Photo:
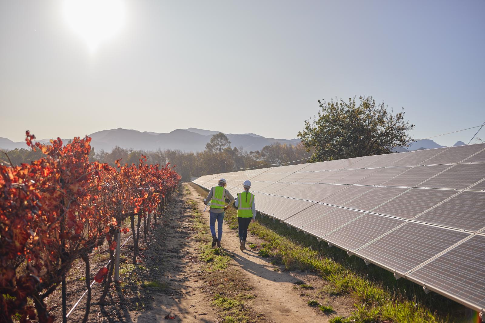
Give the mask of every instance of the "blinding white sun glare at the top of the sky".
M 81 36 L 91 53 L 121 30 L 125 6 L 120 0 L 65 0 L 64 16 L 73 31 Z

